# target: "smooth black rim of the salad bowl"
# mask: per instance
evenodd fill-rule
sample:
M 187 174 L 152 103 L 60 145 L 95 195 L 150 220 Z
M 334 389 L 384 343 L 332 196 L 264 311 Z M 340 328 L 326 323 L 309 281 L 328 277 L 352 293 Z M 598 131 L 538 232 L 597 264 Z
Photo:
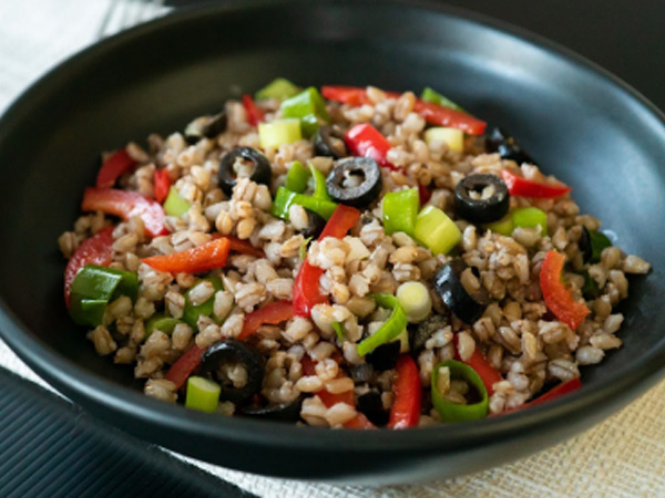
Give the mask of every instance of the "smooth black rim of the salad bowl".
M 154 31 L 168 30 L 170 27 L 182 22 L 195 22 L 197 19 L 209 14 L 221 15 L 234 11 L 293 4 L 314 6 L 307 0 L 226 0 L 218 3 L 193 6 L 95 42 L 55 65 L 19 95 L 0 116 L 0 143 L 3 134 L 7 133 L 6 129 L 11 128 L 14 116 L 20 116 L 34 105 L 31 101 L 37 97 L 42 86 L 50 85 L 52 81 L 58 79 L 66 81 L 71 77 L 71 74 L 76 73 L 79 68 L 85 66 L 89 62 L 105 53 L 113 52 L 117 46 L 129 45 L 133 40 L 150 37 Z M 615 93 L 618 92 L 618 95 L 623 98 L 636 103 L 640 111 L 645 113 L 659 127 L 665 142 L 665 114 L 640 92 L 618 76 L 576 52 L 523 28 L 478 12 L 447 6 L 436 0 L 319 0 L 316 7 L 354 8 L 377 4 L 408 10 L 426 10 L 448 17 L 456 22 L 478 24 L 483 29 L 509 35 L 520 43 L 574 64 L 576 70 L 590 73 L 608 85 Z M 94 374 L 73 361 L 57 354 L 54 350 L 32 335 L 30 329 L 11 311 L 1 297 L 0 310 L 0 335 L 10 347 L 31 369 L 47 382 L 52 383 L 59 391 L 72 395 L 78 401 L 85 400 L 84 403 L 81 403 L 84 407 L 90 408 L 90 406 L 98 405 L 104 409 L 140 421 L 142 424 L 158 425 L 183 434 L 196 434 L 197 436 L 209 436 L 217 440 L 233 440 L 274 448 L 288 446 L 327 452 L 334 447 L 336 449 L 352 448 L 357 452 L 407 450 L 427 453 L 441 452 L 444 448 L 482 445 L 489 438 L 499 440 L 536 427 L 563 426 L 566 424 L 567 417 L 590 418 L 594 412 L 601 412 L 600 407 L 602 405 L 611 406 L 613 411 L 618 409 L 626 403 L 625 400 L 636 397 L 665 373 L 663 366 L 665 365 L 665 344 L 661 343 L 659 349 L 654 347 L 635 364 L 621 372 L 615 372 L 607 380 L 603 380 L 596 385 L 584 386 L 564 398 L 510 415 L 454 425 L 420 427 L 418 430 L 340 432 L 309 426 L 276 425 L 274 422 L 242 417 L 219 417 L 152 400 L 142 393 Z M 621 375 L 618 375 L 620 373 Z M 627 391 L 628 388 L 630 391 Z M 618 403 L 621 397 L 624 398 L 624 403 Z M 596 408 L 592 409 L 594 406 Z M 275 430 L 277 426 L 279 429 Z M 313 437 L 314 435 L 316 437 Z

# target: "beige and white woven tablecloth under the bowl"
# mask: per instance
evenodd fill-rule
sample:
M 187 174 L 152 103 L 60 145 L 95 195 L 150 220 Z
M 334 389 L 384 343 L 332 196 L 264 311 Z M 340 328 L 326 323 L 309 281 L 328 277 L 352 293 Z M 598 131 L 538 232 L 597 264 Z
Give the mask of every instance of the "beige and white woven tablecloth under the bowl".
M 0 1 L 0 113 L 40 74 L 94 41 L 111 1 Z M 111 31 L 112 25 L 105 30 Z M 1 341 L 0 365 L 50 388 Z M 188 460 L 266 497 L 655 497 L 665 496 L 664 411 L 662 382 L 610 419 L 553 448 L 514 464 L 427 485 L 369 488 L 298 483 Z

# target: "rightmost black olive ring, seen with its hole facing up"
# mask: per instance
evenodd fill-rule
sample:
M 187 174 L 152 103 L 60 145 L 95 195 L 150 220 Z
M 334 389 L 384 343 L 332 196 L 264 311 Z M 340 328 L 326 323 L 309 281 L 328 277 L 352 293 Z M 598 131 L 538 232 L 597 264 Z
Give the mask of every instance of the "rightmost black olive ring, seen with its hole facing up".
M 454 210 L 472 224 L 488 224 L 505 216 L 508 187 L 497 175 L 469 175 L 454 187 Z

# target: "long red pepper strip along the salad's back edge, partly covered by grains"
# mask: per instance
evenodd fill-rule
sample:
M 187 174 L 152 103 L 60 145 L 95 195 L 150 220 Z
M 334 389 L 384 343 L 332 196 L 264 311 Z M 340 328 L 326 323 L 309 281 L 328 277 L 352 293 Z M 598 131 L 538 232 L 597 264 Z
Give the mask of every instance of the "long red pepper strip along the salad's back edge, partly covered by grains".
M 321 95 L 330 101 L 341 102 L 355 107 L 371 102 L 365 89 L 354 86 L 324 86 L 321 87 Z M 399 98 L 400 95 L 399 92 L 386 92 L 386 96 L 389 98 Z M 413 112 L 420 114 L 429 124 L 459 128 L 470 135 L 482 135 L 487 126 L 484 121 L 470 114 L 432 102 L 424 102 L 420 98 L 416 98 Z

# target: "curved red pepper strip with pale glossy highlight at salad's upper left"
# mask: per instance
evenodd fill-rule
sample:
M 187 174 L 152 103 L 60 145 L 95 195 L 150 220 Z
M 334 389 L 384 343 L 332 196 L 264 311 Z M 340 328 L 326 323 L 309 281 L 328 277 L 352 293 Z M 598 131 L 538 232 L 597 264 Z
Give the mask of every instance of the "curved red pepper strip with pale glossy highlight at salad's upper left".
M 147 199 L 137 191 L 88 187 L 83 194 L 81 209 L 120 216 L 125 221 L 139 216 L 151 237 L 168 234 L 164 227 L 165 215 L 160 203 Z

